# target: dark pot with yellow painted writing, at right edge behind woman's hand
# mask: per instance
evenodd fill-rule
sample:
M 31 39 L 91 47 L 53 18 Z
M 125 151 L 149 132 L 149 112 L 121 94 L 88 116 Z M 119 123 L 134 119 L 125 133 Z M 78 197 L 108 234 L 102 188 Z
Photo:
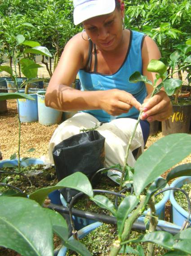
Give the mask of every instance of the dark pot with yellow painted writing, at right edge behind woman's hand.
M 162 121 L 162 134 L 189 133 L 191 124 L 191 99 L 182 98 L 181 105 L 173 104 L 173 115 Z M 183 104 L 184 102 L 184 104 Z

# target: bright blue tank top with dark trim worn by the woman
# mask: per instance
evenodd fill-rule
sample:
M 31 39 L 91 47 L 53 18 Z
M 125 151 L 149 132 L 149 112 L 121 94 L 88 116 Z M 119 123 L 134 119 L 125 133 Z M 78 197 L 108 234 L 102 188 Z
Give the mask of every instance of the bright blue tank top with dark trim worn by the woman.
M 138 102 L 143 103 L 144 98 L 147 96 L 146 86 L 143 82 L 136 84 L 129 83 L 129 77 L 135 71 L 142 74 L 142 43 L 144 34 L 136 31 L 130 31 L 130 41 L 127 55 L 124 63 L 115 74 L 101 74 L 98 72 L 88 72 L 79 70 L 78 75 L 81 83 L 82 91 L 97 91 L 97 90 L 110 90 L 120 89 L 131 93 Z M 129 112 L 123 113 L 120 116 L 111 116 L 102 109 L 98 110 L 84 110 L 95 116 L 100 122 L 109 122 L 116 118 L 130 117 L 138 118 L 138 110 L 132 107 Z

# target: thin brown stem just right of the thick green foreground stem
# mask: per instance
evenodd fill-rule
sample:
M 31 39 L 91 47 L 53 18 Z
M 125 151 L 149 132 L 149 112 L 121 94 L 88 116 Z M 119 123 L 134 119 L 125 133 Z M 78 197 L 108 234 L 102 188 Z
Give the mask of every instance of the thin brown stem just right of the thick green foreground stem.
M 155 197 L 152 196 L 151 199 L 148 202 L 148 205 L 150 206 L 151 209 L 151 215 L 155 215 L 156 210 L 155 210 Z M 155 217 L 151 216 L 149 217 L 150 220 L 150 225 L 149 225 L 149 233 L 155 231 L 156 226 L 158 224 L 158 219 L 156 219 Z M 154 256 L 154 252 L 155 252 L 155 244 L 149 242 L 148 246 L 147 246 L 147 256 Z

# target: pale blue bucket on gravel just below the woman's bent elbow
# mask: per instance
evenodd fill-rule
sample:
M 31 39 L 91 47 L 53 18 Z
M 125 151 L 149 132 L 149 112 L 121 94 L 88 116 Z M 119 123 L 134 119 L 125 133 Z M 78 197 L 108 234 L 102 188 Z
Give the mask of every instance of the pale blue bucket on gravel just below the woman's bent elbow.
M 51 107 L 46 107 L 44 98 L 44 91 L 37 92 L 39 123 L 44 126 L 58 124 L 62 119 L 62 112 Z

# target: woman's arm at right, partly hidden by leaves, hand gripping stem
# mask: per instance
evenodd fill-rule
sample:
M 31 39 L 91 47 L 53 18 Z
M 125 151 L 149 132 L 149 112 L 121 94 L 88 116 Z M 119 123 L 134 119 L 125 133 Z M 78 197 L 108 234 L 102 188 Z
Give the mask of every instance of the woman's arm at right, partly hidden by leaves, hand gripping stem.
M 152 59 L 160 59 L 160 51 L 151 37 L 145 37 L 142 46 L 142 63 L 143 63 L 143 75 L 146 75 L 149 80 L 154 82 L 155 73 L 147 71 L 147 66 Z M 160 84 L 161 81 L 158 81 Z M 141 119 L 147 119 L 147 121 L 163 121 L 172 114 L 172 104 L 168 95 L 162 88 L 159 93 L 151 97 L 153 87 L 150 84 L 146 84 L 148 96 L 145 98 L 142 105 L 144 113 Z

